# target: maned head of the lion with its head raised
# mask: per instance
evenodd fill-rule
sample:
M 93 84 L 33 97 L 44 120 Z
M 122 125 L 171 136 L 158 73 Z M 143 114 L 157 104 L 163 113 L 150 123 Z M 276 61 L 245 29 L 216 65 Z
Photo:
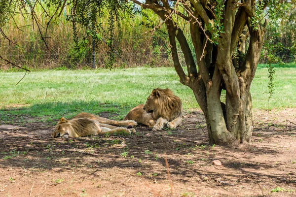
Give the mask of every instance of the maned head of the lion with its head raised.
M 154 120 L 161 116 L 171 121 L 172 118 L 182 116 L 182 101 L 170 89 L 157 88 L 147 98 L 144 110 L 152 113 Z

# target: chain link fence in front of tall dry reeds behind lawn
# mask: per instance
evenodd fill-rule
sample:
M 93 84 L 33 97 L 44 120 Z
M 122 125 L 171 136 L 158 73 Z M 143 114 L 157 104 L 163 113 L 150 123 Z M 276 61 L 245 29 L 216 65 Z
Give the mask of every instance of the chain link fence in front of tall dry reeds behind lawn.
M 189 38 L 189 36 L 186 34 L 186 37 Z M 289 47 L 295 44 L 295 41 L 293 43 L 282 40 L 284 41 L 279 43 L 284 47 L 278 50 L 276 55 L 285 63 L 294 62 L 296 54 Z M 110 61 L 113 67 L 173 66 L 170 43 L 168 36 L 164 34 L 147 33 L 122 36 L 120 39 L 114 38 L 112 48 L 107 45 L 104 38 L 95 41 L 87 37 L 83 43 L 79 44 L 79 51 L 74 50 L 72 36 L 62 38 L 60 35 L 51 35 L 46 40 L 46 44 L 40 38 L 22 40 L 19 45 L 9 44 L 7 40 L 2 39 L 0 54 L 16 65 L 29 68 L 98 68 L 108 67 Z M 194 54 L 193 46 L 191 50 Z M 111 53 L 113 60 L 110 58 Z M 181 64 L 185 66 L 180 47 L 179 55 Z M 265 59 L 261 60 L 261 63 L 265 62 Z M 3 64 L 4 62 L 1 61 L 1 65 Z

